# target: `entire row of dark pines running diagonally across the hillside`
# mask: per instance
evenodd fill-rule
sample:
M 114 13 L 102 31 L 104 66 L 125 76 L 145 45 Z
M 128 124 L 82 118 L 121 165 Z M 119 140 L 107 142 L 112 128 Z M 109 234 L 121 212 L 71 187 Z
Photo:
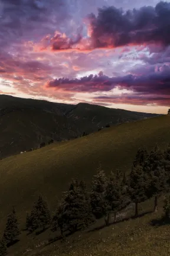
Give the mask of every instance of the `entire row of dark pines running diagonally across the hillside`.
M 44 231 L 51 226 L 52 231 L 74 233 L 85 229 L 104 217 L 105 225 L 109 225 L 110 214 L 116 214 L 130 203 L 135 204 L 135 217 L 138 217 L 139 203 L 154 199 L 154 211 L 158 210 L 158 199 L 162 194 L 170 192 L 170 145 L 165 150 L 155 146 L 148 152 L 140 148 L 136 153 L 129 174 L 117 171 L 105 174 L 98 168 L 90 187 L 84 181 L 73 180 L 63 198 L 58 201 L 55 213 L 51 216 L 46 199 L 40 195 L 27 214 L 25 229 L 34 232 Z M 164 204 L 165 217 L 170 218 L 170 197 Z M 14 207 L 6 222 L 4 235 L 0 242 L 0 256 L 6 255 L 6 246 L 12 245 L 20 231 Z

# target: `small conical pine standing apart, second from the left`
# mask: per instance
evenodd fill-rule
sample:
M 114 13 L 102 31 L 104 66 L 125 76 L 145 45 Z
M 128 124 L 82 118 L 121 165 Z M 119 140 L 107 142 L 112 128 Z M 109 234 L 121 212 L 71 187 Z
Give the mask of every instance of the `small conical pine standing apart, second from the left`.
M 34 203 L 30 216 L 27 215 L 26 228 L 30 232 L 35 231 L 37 228 L 42 228 L 44 230 L 50 223 L 51 217 L 47 201 L 42 199 L 42 196 L 40 195 L 38 200 Z

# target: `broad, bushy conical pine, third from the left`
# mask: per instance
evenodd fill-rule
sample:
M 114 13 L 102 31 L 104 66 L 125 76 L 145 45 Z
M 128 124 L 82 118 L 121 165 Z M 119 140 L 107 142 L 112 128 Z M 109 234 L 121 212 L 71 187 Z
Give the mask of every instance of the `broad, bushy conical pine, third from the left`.
M 66 197 L 60 201 L 53 217 L 53 230 L 67 229 L 71 233 L 89 226 L 94 221 L 86 185 L 73 180 Z

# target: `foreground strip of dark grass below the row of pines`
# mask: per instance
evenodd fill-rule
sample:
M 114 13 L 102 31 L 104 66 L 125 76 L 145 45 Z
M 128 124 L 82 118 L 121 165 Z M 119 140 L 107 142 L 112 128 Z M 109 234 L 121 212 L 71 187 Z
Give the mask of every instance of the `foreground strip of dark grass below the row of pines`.
M 162 202 L 154 213 L 153 199 L 139 204 L 139 217 L 134 209 L 123 212 L 117 222 L 103 227 L 100 219 L 86 231 L 76 232 L 65 239 L 50 229 L 40 235 L 22 232 L 20 241 L 8 248 L 8 256 L 168 256 L 170 226 L 162 222 Z

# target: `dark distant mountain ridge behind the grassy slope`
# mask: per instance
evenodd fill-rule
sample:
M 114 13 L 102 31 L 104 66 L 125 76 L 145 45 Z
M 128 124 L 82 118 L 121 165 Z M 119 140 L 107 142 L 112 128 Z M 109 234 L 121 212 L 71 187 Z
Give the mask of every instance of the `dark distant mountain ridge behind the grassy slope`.
M 41 143 L 73 139 L 105 127 L 159 116 L 79 103 L 0 95 L 0 158 L 37 148 Z

